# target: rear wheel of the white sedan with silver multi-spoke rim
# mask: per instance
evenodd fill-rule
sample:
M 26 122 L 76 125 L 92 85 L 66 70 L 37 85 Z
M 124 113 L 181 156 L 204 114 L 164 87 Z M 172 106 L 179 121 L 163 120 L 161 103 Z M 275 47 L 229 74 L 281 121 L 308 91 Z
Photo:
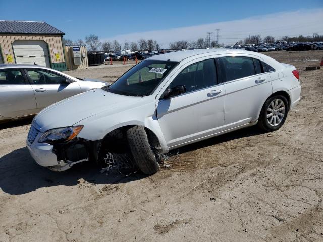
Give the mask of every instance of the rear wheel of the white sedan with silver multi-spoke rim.
M 288 108 L 286 97 L 276 95 L 268 98 L 261 108 L 258 126 L 267 132 L 278 130 L 285 123 Z

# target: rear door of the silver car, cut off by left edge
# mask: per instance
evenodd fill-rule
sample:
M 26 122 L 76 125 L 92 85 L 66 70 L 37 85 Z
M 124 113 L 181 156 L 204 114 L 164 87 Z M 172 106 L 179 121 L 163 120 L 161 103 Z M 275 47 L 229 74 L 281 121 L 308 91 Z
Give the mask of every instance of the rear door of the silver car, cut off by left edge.
M 34 91 L 19 68 L 0 70 L 0 116 L 14 118 L 37 113 Z

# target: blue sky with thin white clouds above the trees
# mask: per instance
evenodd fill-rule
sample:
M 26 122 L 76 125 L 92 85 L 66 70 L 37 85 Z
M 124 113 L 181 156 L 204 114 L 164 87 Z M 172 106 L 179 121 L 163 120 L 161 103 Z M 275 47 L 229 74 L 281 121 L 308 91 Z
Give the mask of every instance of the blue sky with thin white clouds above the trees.
M 306 8 L 310 6 L 310 8 Z M 282 31 L 288 30 L 288 34 L 306 34 L 308 25 L 314 29 L 309 29 L 311 33 L 321 32 L 323 34 L 323 1 L 322 0 L 293 0 L 293 1 L 15 1 L 0 0 L 2 20 L 35 20 L 45 21 L 61 31 L 66 33 L 66 38 L 76 40 L 84 39 L 85 35 L 96 34 L 102 40 L 122 38 L 128 42 L 135 41 L 140 34 L 148 37 L 146 34 L 155 34 L 155 31 L 164 31 L 169 29 L 181 29 L 190 26 L 208 26 L 207 31 L 214 32 L 217 23 L 222 23 L 220 36 L 223 42 L 234 42 L 236 37 L 242 37 L 251 31 L 267 30 L 267 34 L 282 34 L 274 31 L 278 27 Z M 316 14 L 310 20 L 312 12 Z M 320 11 L 320 12 L 317 12 Z M 271 25 L 265 21 L 265 16 L 293 13 L 289 19 L 281 20 L 283 22 Z M 308 14 L 302 18 L 303 14 Z M 252 21 L 245 22 L 245 25 L 239 24 L 240 20 L 262 19 L 262 24 L 252 24 Z M 322 17 L 322 18 L 320 18 Z M 299 21 L 301 19 L 301 21 Z M 295 22 L 296 21 L 296 22 Z M 297 22 L 299 21 L 299 22 Z M 309 21 L 306 23 L 306 21 Z M 257 21 L 256 21 L 257 22 Z M 216 23 L 216 24 L 214 24 Z M 223 23 L 227 23 L 224 25 Z M 231 23 L 231 24 L 230 24 Z M 243 22 L 241 22 L 243 23 Z M 236 25 L 237 27 L 235 28 Z M 285 27 L 285 29 L 284 29 Z M 194 28 L 192 28 L 192 31 Z M 271 31 L 270 31 L 271 30 Z M 292 32 L 290 32 L 293 30 Z M 152 32 L 151 32 L 152 31 Z M 202 31 L 202 30 L 201 30 Z M 205 37 L 206 32 L 199 32 Z M 203 29 L 204 31 L 204 29 Z M 173 31 L 174 32 L 174 31 Z M 198 32 L 198 31 L 197 31 Z M 132 33 L 136 33 L 133 35 Z M 171 32 L 170 32 L 171 33 Z M 131 35 L 132 34 L 132 35 Z M 264 34 L 264 33 L 263 33 Z M 159 35 L 158 35 L 159 36 Z M 174 38 L 185 36 L 171 36 Z M 215 35 L 213 35 L 215 37 Z M 127 39 L 131 38 L 131 39 Z M 154 38 L 151 36 L 150 38 Z M 162 36 L 158 41 L 164 44 L 168 43 Z M 161 38 L 161 39 L 160 39 Z M 192 33 L 189 38 L 195 38 Z M 221 42 L 221 39 L 220 39 Z

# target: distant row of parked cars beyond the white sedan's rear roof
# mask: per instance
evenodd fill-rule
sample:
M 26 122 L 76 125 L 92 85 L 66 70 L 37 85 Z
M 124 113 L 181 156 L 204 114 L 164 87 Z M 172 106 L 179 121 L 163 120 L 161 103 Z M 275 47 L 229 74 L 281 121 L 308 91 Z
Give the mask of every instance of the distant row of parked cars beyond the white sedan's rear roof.
M 287 51 L 301 51 L 301 50 L 323 50 L 323 42 L 306 42 L 306 43 L 295 43 L 295 42 L 284 42 L 284 43 L 261 43 L 255 45 L 236 45 L 236 49 L 242 49 L 254 52 L 267 52 L 277 50 Z

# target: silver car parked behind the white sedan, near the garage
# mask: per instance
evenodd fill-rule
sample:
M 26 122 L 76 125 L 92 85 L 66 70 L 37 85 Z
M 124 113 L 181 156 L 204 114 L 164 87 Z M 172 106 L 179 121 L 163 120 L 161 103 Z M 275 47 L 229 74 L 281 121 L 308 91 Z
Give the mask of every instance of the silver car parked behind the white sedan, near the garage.
M 67 97 L 106 86 L 24 64 L 0 64 L 0 121 L 34 115 Z

